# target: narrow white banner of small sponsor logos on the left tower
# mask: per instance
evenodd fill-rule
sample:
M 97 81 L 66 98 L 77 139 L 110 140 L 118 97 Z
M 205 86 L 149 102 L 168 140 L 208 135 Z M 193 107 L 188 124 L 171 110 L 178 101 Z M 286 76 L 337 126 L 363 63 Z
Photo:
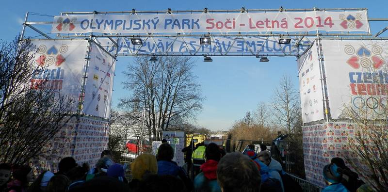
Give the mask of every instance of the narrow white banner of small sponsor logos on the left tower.
M 85 114 L 109 118 L 115 65 L 113 57 L 94 43 L 91 44 L 83 102 Z

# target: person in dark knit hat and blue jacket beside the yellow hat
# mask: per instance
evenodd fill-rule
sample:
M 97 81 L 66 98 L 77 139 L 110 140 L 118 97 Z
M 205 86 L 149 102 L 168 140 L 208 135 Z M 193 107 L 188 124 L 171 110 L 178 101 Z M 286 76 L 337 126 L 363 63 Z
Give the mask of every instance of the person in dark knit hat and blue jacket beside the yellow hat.
M 187 177 L 186 172 L 182 167 L 178 166 L 178 163 L 173 161 L 174 159 L 174 149 L 168 143 L 163 143 L 158 148 L 158 175 L 170 175 L 175 176 L 185 183 L 188 191 L 193 189 L 193 183 Z

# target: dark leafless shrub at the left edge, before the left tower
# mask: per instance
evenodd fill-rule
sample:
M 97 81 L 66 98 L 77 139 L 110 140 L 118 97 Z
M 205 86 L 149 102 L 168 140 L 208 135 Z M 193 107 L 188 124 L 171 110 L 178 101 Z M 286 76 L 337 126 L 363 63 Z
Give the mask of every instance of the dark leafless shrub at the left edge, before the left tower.
M 72 99 L 46 86 L 32 87 L 36 48 L 31 41 L 2 42 L 0 45 L 0 162 L 26 163 L 70 119 Z

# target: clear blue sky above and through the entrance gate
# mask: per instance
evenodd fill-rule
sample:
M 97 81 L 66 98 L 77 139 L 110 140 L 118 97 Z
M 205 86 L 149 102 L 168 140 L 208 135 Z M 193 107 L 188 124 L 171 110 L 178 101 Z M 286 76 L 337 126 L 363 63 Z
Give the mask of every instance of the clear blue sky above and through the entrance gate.
M 284 8 L 368 8 L 369 17 L 388 17 L 388 0 L 2 0 L 0 6 L 0 39 L 12 40 L 22 28 L 27 11 L 57 16 L 65 11 L 138 11 L 146 10 L 191 10 L 191 9 L 274 9 Z M 50 16 L 31 16 L 31 19 L 51 21 Z M 371 22 L 373 33 L 388 26 L 388 22 Z M 44 32 L 49 32 L 49 29 Z M 31 30 L 27 36 L 38 35 Z M 388 36 L 388 32 L 381 36 Z M 121 82 L 122 71 L 132 62 L 131 58 L 118 58 L 114 80 L 113 106 L 122 96 L 129 96 Z M 194 74 L 202 85 L 203 111 L 195 124 L 212 129 L 227 130 L 233 122 L 242 118 L 246 111 L 255 110 L 260 101 L 271 100 L 272 92 L 282 75 L 288 74 L 297 88 L 296 58 L 272 57 L 268 63 L 260 63 L 254 57 L 215 57 L 212 63 L 204 63 L 201 57 L 194 58 Z

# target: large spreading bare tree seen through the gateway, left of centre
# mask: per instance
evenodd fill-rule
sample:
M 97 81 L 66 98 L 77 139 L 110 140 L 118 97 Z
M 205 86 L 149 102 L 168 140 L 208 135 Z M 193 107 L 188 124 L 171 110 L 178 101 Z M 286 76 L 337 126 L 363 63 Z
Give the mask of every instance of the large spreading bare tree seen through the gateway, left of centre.
M 148 135 L 156 135 L 157 130 L 167 130 L 172 123 L 178 126 L 194 118 L 204 98 L 189 57 L 162 56 L 157 62 L 148 59 L 135 58 L 124 73 L 128 80 L 123 84 L 132 96 L 122 98 L 120 107 L 127 110 L 130 118 L 144 122 Z

